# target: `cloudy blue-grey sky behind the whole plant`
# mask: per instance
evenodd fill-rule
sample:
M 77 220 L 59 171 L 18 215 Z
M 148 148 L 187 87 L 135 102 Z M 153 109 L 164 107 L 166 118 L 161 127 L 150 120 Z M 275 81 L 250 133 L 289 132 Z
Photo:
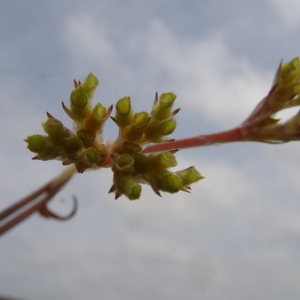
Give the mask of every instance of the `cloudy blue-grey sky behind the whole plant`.
M 95 102 L 131 96 L 150 110 L 173 91 L 172 135 L 238 125 L 300 55 L 298 0 L 0 1 L 0 210 L 55 177 L 23 139 L 42 133 L 73 79 L 94 72 Z M 109 122 L 105 135 L 113 139 Z M 37 214 L 0 239 L 0 295 L 19 299 L 299 299 L 300 144 L 182 150 L 206 177 L 191 194 L 144 187 L 108 194 L 109 170 L 75 176 L 52 201 L 66 223 Z

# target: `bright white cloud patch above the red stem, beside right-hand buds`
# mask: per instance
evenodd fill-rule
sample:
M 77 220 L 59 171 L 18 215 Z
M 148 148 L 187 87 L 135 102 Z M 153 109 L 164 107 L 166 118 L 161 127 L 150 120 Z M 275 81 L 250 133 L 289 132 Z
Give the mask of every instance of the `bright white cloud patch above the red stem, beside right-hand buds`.
M 151 25 L 148 46 L 155 66 L 166 69 L 170 80 L 176 82 L 176 93 L 184 98 L 184 105 L 208 120 L 241 122 L 271 85 L 269 72 L 234 57 L 222 32 L 203 40 L 177 40 L 156 20 Z

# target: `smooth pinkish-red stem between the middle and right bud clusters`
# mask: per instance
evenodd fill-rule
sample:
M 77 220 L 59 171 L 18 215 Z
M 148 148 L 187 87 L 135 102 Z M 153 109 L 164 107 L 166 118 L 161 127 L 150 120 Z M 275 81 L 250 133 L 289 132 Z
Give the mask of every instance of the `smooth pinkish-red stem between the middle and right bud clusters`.
M 173 149 L 210 146 L 212 144 L 230 143 L 243 141 L 245 134 L 241 127 L 213 134 L 198 135 L 191 138 L 175 140 L 163 144 L 154 144 L 146 147 L 143 153 L 161 152 Z

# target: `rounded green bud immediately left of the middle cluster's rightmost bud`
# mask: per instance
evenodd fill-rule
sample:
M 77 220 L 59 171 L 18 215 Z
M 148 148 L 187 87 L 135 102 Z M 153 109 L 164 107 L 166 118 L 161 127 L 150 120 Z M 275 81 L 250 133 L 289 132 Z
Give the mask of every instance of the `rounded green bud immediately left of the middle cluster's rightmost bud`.
M 180 177 L 169 171 L 157 172 L 154 174 L 154 178 L 158 189 L 161 191 L 173 194 L 179 192 L 183 187 Z

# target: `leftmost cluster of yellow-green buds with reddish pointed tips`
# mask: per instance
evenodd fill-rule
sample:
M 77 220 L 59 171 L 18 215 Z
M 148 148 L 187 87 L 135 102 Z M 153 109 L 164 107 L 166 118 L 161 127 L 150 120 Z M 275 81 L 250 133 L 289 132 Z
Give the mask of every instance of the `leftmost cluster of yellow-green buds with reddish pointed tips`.
M 33 159 L 59 159 L 63 165 L 74 164 L 80 173 L 101 165 L 107 155 L 102 129 L 112 107 L 106 109 L 100 103 L 92 107 L 97 85 L 98 79 L 90 73 L 82 84 L 75 81 L 70 108 L 62 103 L 64 111 L 74 121 L 73 131 L 47 113 L 48 120 L 42 124 L 47 135 L 31 135 L 26 139 L 28 149 L 36 153 Z

